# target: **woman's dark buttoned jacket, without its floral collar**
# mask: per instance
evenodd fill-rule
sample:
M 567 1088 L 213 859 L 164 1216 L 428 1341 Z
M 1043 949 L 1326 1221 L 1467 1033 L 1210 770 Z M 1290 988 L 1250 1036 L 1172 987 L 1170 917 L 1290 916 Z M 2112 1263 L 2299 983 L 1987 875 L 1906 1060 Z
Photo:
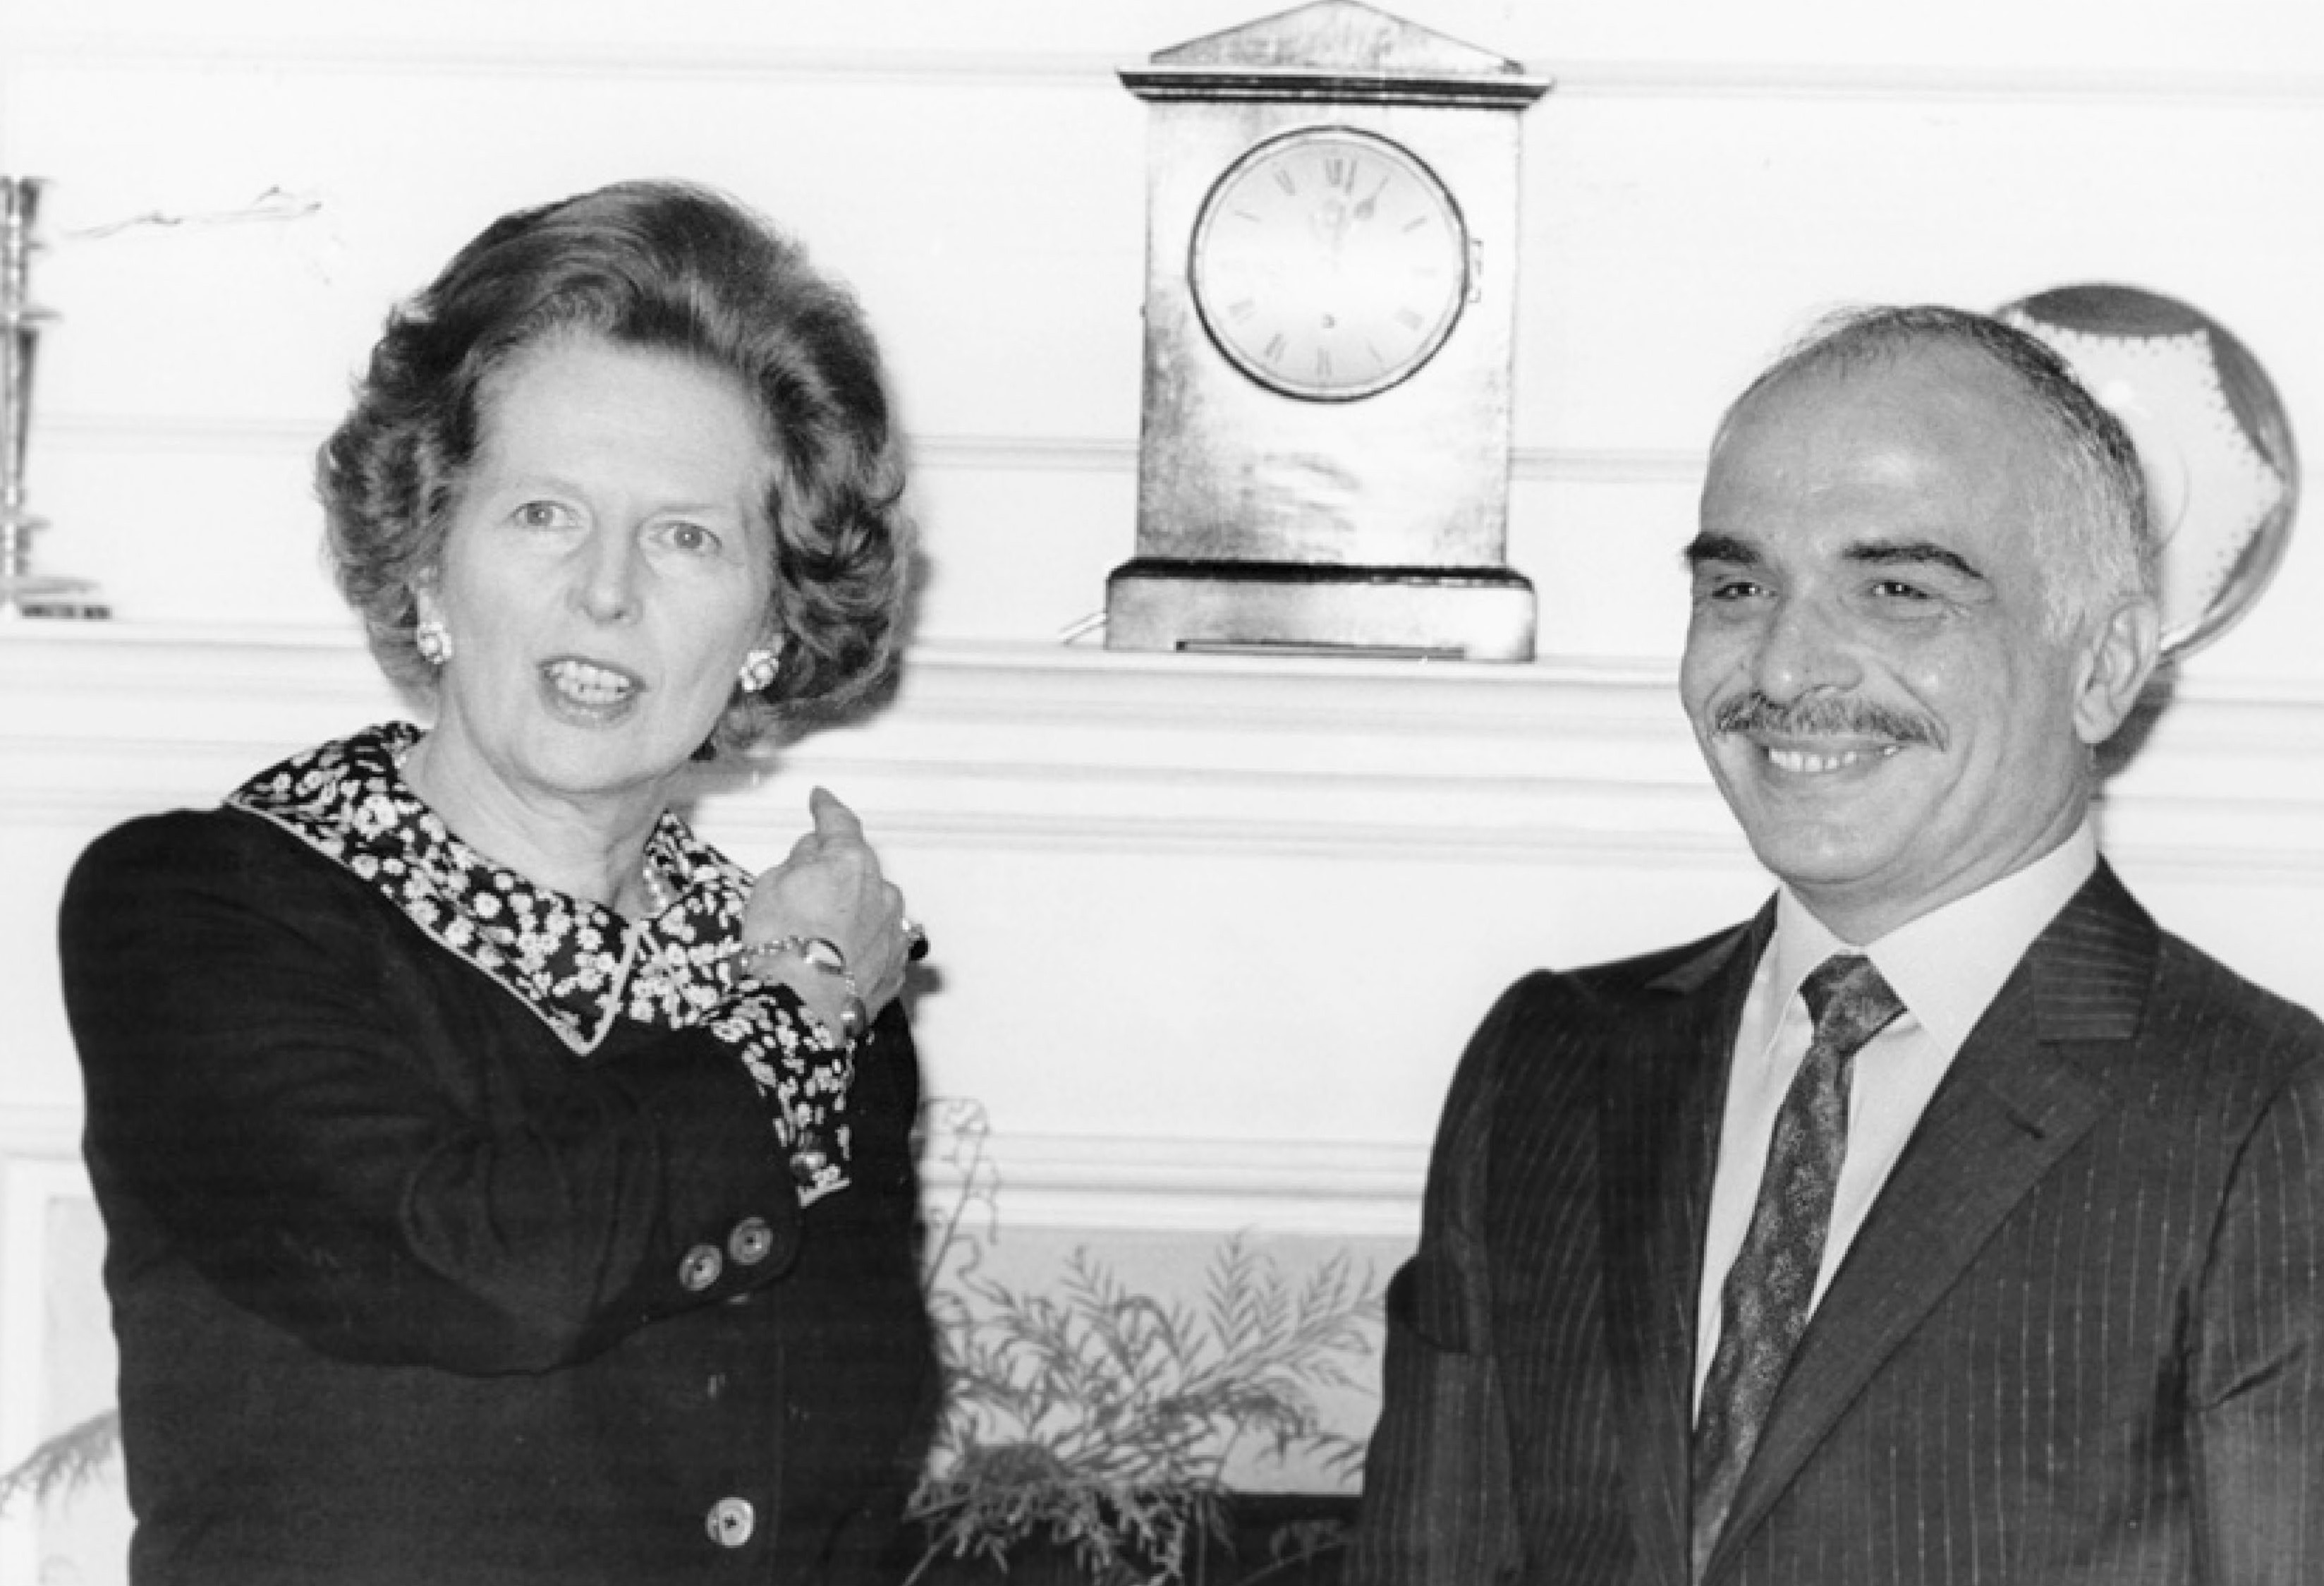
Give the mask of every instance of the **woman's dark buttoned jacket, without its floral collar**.
M 802 1209 L 709 1030 L 574 1056 L 256 816 L 102 837 L 63 960 L 139 1586 L 897 1579 L 932 1393 L 897 1009 L 855 1184 Z

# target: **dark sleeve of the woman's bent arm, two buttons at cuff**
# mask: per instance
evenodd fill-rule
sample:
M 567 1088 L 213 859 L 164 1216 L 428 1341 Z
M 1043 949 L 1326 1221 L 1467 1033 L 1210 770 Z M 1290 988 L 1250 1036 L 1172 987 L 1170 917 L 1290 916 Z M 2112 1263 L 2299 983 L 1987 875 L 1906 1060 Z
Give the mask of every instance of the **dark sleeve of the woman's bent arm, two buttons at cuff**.
M 116 1281 L 184 1260 L 330 1356 L 495 1374 L 797 1253 L 790 1165 L 716 1035 L 544 1053 L 504 993 L 246 816 L 93 844 L 63 965 Z

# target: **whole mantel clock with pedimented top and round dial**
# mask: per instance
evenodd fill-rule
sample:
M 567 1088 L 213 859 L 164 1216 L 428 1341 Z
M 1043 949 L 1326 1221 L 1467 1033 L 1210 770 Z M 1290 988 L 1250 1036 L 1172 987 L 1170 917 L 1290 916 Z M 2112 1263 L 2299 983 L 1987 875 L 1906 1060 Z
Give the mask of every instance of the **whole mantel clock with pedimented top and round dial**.
M 1153 56 L 1136 560 L 1113 649 L 1529 660 L 1501 565 L 1518 119 L 1357 0 Z

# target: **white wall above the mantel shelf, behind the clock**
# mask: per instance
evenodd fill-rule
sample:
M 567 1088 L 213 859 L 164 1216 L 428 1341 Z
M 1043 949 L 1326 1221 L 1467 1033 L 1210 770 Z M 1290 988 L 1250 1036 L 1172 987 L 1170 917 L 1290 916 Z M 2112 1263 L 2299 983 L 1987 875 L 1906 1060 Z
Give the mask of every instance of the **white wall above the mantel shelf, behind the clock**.
M 58 184 L 56 565 L 139 621 L 337 621 L 304 458 L 383 307 L 507 207 L 676 172 L 792 226 L 883 328 L 925 458 L 930 637 L 1041 644 L 1102 602 L 1132 537 L 1143 267 L 1146 112 L 1113 70 L 1250 7 L 379 9 L 0 14 L 0 158 Z M 1511 526 L 1545 651 L 1671 653 L 1703 437 L 1834 302 L 2131 281 L 2231 326 L 2296 426 L 2324 407 L 2301 267 L 2324 256 L 2324 21 L 2301 0 L 1975 0 L 1913 28 L 1836 0 L 1571 12 L 1404 7 L 1557 81 L 1522 123 Z M 311 214 L 86 235 L 272 191 Z M 2282 581 L 2315 591 L 2319 560 L 2298 546 Z M 2208 670 L 2324 677 L 2298 605 Z

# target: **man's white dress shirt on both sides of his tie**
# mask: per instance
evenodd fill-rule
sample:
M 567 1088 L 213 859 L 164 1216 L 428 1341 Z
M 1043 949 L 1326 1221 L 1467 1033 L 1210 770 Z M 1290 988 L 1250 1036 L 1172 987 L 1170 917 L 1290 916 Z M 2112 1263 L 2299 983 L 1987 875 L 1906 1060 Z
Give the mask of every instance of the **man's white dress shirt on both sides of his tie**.
M 1720 1342 L 1720 1288 L 1743 1251 L 1750 1214 L 1766 1172 L 1776 1114 L 1792 1077 L 1808 1056 L 1813 1021 L 1801 981 L 1831 953 L 1864 953 L 1903 1002 L 1903 1014 L 1855 1058 L 1848 1093 L 1848 1156 L 1831 1200 L 1824 1265 L 1815 1274 L 1820 1305 L 1831 1274 L 1855 1242 L 1906 1140 L 1936 1095 L 1968 1033 L 1992 1007 L 2001 984 L 2033 937 L 2057 919 L 2099 867 L 2089 821 L 2024 870 L 1943 909 L 1924 914 L 1878 942 L 1852 946 L 1815 919 L 1789 888 L 1776 895 L 1776 940 L 1759 958 L 1743 1021 L 1736 1026 L 1720 1160 L 1710 1181 L 1710 1223 L 1703 1235 L 1703 1286 L 1697 1298 L 1694 1402 Z

